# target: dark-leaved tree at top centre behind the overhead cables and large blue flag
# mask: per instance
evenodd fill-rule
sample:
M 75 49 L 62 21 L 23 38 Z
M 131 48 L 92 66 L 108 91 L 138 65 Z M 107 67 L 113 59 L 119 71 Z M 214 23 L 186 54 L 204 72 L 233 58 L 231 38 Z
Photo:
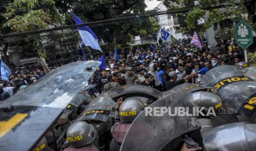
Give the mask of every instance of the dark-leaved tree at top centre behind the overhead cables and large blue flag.
M 70 10 L 84 22 L 122 18 L 125 16 L 145 13 L 146 4 L 140 0 L 86 0 L 69 1 Z M 74 24 L 73 17 L 66 14 L 66 23 Z M 151 27 L 149 18 L 135 18 L 111 24 L 89 26 L 99 39 L 111 43 L 130 43 L 141 30 L 148 31 Z

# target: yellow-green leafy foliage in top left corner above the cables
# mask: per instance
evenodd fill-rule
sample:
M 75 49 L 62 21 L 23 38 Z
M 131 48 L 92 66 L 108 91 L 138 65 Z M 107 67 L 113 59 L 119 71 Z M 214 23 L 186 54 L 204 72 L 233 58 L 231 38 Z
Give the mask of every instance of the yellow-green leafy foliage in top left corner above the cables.
M 8 19 L 2 24 L 3 30 L 13 32 L 40 30 L 61 22 L 53 0 L 14 0 L 1 16 Z

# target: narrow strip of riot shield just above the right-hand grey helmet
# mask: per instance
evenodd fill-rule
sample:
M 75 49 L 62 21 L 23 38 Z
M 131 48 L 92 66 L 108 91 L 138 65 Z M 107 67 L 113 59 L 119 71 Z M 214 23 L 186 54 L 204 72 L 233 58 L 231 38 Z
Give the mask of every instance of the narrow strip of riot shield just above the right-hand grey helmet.
M 215 88 L 212 88 L 212 87 L 209 87 L 209 86 L 202 86 L 202 85 L 194 84 L 194 83 L 183 83 L 183 84 L 175 86 L 171 90 L 173 92 L 178 92 L 178 91 L 182 91 L 182 90 L 189 90 L 191 92 L 208 91 L 208 92 L 213 92 L 214 94 L 217 93 L 217 90 Z

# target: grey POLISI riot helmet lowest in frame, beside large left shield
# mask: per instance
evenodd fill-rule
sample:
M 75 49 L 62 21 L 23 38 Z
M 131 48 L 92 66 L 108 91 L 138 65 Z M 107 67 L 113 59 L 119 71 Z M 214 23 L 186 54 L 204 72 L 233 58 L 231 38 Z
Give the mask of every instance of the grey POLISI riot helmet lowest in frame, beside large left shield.
M 72 147 L 87 146 L 94 142 L 97 132 L 94 126 L 85 121 L 76 121 L 68 127 L 67 141 Z

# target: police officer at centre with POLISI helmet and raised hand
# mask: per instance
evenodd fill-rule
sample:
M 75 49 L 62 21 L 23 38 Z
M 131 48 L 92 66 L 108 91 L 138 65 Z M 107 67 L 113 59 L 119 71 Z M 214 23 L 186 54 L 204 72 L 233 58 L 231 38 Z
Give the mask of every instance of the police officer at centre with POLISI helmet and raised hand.
M 136 98 L 118 98 L 116 107 L 116 118 L 119 123 L 112 126 L 112 141 L 110 144 L 110 151 L 119 150 L 123 142 L 124 136 L 126 135 L 133 120 L 139 115 L 144 109 L 144 104 Z M 118 116 L 119 115 L 119 116 Z

